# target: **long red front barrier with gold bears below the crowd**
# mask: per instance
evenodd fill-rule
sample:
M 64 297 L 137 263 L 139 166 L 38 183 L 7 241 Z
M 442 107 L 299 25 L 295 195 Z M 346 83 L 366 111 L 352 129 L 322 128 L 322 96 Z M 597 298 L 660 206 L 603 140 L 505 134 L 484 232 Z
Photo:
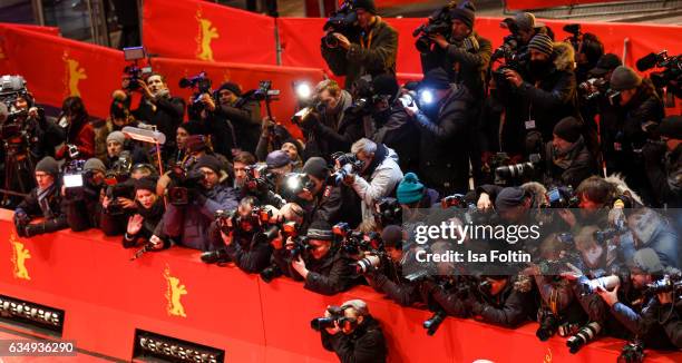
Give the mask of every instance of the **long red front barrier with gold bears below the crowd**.
M 428 312 L 399 307 L 366 286 L 322 296 L 285 278 L 265 284 L 235 267 L 205 265 L 198 252 L 179 247 L 130 262 L 135 251 L 120 238 L 99 230 L 18 238 L 11 217 L 0 209 L 0 294 L 64 310 L 62 340 L 124 361 L 139 328 L 224 350 L 226 362 L 337 362 L 310 321 L 351 298 L 367 301 L 381 321 L 390 362 L 615 362 L 624 344 L 602 339 L 571 355 L 563 339 L 540 343 L 535 323 L 506 330 L 456 318 L 427 336 Z M 647 362 L 681 360 L 647 352 Z

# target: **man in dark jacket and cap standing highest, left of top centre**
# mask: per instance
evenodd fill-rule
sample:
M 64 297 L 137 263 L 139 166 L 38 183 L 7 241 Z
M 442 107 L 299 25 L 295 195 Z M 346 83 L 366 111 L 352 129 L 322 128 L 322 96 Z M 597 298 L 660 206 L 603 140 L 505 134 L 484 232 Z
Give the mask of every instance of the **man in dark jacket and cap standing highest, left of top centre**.
M 322 58 L 337 76 L 345 76 L 345 89 L 360 77 L 396 73 L 398 32 L 380 17 L 373 0 L 353 0 L 357 27 L 347 33 L 329 28 L 322 38 Z M 335 45 L 327 36 L 335 38 Z

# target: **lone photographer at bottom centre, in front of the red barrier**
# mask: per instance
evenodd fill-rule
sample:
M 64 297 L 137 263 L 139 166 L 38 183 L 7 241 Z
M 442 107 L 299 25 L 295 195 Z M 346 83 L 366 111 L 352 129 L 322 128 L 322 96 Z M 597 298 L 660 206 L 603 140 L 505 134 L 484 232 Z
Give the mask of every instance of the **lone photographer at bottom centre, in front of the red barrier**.
M 331 308 L 324 311 L 324 317 L 332 318 Z M 320 328 L 322 346 L 337 353 L 341 363 L 386 362 L 386 340 L 379 322 L 370 315 L 367 303 L 351 300 L 339 310 L 341 316 L 333 316 L 333 326 Z

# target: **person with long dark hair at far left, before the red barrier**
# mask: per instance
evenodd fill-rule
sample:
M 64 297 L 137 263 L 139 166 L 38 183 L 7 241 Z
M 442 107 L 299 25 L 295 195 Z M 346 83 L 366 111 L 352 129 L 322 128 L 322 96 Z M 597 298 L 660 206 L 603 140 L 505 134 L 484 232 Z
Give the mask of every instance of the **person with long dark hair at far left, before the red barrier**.
M 79 158 L 87 159 L 95 156 L 95 130 L 89 118 L 80 97 L 71 96 L 64 100 L 59 126 L 66 129 L 66 145 L 57 150 L 56 159 L 68 157 L 68 145 L 75 145 L 78 148 Z

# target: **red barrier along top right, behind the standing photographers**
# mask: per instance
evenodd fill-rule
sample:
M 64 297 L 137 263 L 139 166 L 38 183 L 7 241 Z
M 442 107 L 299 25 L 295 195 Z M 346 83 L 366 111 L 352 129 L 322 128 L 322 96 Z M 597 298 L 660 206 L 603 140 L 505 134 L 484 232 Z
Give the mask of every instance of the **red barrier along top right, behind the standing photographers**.
M 421 72 L 419 52 L 415 49 L 412 31 L 423 22 L 423 19 L 386 19 L 399 32 L 398 38 L 398 72 Z M 292 67 L 324 67 L 320 55 L 320 39 L 324 19 L 280 18 L 277 24 L 282 42 L 282 63 Z M 501 43 L 508 31 L 499 28 L 501 18 L 477 18 L 476 30 L 490 39 L 493 47 Z M 557 40 L 568 37 L 562 28 L 571 21 L 543 20 L 556 33 Z M 682 27 L 656 24 L 627 24 L 606 22 L 584 22 L 584 32 L 594 32 L 604 42 L 606 52 L 623 56 L 623 40 L 630 39 L 626 63 L 634 67 L 635 61 L 652 51 L 668 49 L 670 55 L 682 52 L 679 40 Z

